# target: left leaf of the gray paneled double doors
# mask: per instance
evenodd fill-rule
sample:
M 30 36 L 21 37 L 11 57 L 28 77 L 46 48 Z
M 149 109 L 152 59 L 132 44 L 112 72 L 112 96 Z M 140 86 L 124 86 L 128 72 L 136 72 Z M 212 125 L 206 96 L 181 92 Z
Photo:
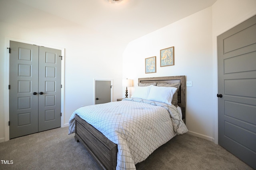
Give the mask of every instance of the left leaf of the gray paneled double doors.
M 38 132 L 38 46 L 11 41 L 10 49 L 9 131 L 12 139 Z

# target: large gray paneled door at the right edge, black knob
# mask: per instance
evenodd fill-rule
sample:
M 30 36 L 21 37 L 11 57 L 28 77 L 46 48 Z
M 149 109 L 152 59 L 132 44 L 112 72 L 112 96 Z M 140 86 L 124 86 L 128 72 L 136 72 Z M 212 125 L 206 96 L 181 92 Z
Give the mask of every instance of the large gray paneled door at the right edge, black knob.
M 256 169 L 256 16 L 217 43 L 218 143 Z

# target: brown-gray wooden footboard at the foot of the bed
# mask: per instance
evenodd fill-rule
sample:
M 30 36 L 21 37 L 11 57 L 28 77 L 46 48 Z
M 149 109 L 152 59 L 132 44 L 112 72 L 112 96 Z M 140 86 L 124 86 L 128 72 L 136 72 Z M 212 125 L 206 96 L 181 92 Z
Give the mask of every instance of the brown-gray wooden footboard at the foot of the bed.
M 117 160 L 117 145 L 106 138 L 100 131 L 81 119 L 76 119 L 75 139 L 81 142 L 96 162 L 104 170 L 115 170 Z

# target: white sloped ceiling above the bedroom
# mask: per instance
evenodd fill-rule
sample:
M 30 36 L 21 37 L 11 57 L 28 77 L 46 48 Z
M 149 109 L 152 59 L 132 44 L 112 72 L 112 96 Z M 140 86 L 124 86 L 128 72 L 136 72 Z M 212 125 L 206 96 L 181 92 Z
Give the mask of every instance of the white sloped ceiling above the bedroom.
M 110 4 L 108 0 L 8 0 L 10 1 L 32 7 L 33 10 L 44 13 L 44 16 L 48 14 L 79 25 L 84 34 L 126 42 L 208 8 L 216 2 L 122 0 L 119 4 Z M 8 18 L 2 20 L 7 21 Z

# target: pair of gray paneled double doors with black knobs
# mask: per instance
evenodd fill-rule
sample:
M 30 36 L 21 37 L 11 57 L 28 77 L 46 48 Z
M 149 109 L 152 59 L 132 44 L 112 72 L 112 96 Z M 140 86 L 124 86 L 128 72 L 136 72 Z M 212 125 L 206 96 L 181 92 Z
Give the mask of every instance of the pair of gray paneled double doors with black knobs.
M 60 127 L 60 55 L 10 41 L 10 139 Z

